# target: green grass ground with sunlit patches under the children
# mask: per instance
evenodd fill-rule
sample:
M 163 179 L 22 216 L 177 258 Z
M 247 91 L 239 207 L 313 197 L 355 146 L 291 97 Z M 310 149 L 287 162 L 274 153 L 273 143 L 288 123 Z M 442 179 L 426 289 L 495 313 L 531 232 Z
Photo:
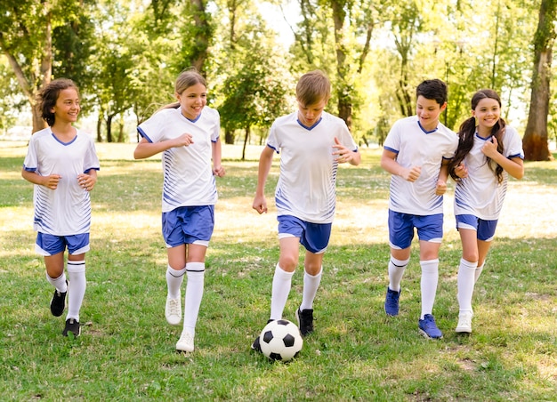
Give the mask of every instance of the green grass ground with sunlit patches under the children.
M 227 175 L 207 253 L 196 350 L 174 350 L 181 328 L 164 318 L 160 159 L 133 161 L 133 144 L 97 144 L 92 251 L 79 338 L 61 336 L 52 288 L 34 253 L 32 185 L 20 178 L 24 142 L 0 142 L 1 400 L 557 400 L 557 163 L 527 163 L 511 181 L 496 242 L 474 294 L 473 334 L 456 335 L 452 187 L 434 314 L 445 337 L 417 333 L 417 250 L 398 318 L 383 312 L 389 176 L 380 151 L 342 166 L 338 205 L 315 303 L 316 332 L 298 358 L 272 363 L 250 350 L 270 310 L 278 259 L 270 213 L 251 209 L 260 148 L 223 149 Z M 301 301 L 298 269 L 285 318 Z

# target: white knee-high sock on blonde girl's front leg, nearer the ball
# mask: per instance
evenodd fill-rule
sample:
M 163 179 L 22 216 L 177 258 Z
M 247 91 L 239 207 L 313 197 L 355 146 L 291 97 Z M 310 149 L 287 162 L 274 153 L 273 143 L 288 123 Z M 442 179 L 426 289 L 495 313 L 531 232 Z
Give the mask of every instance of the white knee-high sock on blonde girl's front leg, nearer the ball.
M 198 322 L 199 307 L 203 299 L 205 285 L 205 262 L 189 262 L 186 264 L 186 295 L 184 296 L 183 330 L 195 335 Z

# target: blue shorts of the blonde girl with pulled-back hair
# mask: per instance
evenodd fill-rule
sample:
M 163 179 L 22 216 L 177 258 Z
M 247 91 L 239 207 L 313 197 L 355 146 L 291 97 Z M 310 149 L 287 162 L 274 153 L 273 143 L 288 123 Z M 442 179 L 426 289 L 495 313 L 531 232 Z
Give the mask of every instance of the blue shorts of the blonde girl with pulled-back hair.
M 213 236 L 214 205 L 179 206 L 163 213 L 163 237 L 166 247 L 205 245 Z

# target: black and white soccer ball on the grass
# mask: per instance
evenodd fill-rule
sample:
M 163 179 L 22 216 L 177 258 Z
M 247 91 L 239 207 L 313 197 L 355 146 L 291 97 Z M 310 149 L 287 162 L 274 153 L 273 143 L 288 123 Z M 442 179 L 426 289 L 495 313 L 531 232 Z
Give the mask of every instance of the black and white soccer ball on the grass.
M 267 358 L 288 361 L 302 350 L 303 339 L 300 329 L 293 322 L 278 319 L 263 328 L 259 344 Z

